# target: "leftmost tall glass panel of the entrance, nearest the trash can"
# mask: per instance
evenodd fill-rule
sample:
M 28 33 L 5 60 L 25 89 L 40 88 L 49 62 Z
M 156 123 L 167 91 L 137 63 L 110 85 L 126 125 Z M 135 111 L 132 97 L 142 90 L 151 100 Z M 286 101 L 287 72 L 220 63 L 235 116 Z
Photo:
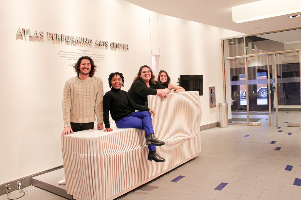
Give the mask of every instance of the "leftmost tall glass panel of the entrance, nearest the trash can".
M 225 60 L 224 63 L 226 100 L 228 102 L 228 115 L 231 116 L 229 117 L 229 123 L 247 125 L 247 100 L 244 93 L 246 86 L 244 58 L 229 59 Z

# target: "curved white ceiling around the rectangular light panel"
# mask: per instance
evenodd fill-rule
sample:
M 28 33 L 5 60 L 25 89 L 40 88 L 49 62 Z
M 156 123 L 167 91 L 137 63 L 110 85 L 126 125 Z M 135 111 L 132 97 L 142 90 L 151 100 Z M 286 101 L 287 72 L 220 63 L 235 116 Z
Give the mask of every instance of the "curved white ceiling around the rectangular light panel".
M 178 17 L 185 20 L 191 20 L 203 24 L 208 24 L 211 26 L 241 32 L 244 34 L 255 34 L 301 27 L 301 17 L 287 19 L 286 17 L 290 16 L 290 14 L 238 24 L 232 21 L 232 7 L 257 2 L 258 0 L 125 1 L 138 5 L 147 10 L 157 12 L 159 14 Z M 301 14 L 301 12 L 295 14 Z

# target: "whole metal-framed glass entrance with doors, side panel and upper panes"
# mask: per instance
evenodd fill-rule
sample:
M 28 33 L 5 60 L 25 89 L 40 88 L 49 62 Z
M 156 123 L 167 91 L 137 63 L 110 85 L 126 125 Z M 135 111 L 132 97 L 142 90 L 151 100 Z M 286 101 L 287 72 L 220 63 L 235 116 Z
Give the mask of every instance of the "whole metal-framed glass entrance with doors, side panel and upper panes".
M 294 29 L 222 39 L 230 124 L 300 127 L 300 38 Z

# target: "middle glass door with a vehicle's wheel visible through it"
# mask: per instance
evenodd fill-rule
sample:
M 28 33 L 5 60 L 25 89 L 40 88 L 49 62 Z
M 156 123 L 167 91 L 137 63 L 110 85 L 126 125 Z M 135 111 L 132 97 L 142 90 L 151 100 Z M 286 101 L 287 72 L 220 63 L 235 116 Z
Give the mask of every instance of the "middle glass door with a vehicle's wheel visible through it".
M 247 57 L 247 73 L 250 125 L 271 126 L 274 99 L 271 95 L 273 86 L 269 81 L 272 78 L 272 66 L 268 56 Z

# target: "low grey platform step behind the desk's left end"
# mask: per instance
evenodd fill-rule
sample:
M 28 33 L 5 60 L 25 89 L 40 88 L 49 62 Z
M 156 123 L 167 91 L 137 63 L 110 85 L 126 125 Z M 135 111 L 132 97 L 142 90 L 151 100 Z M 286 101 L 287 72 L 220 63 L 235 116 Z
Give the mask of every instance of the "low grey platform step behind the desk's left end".
M 61 168 L 39 176 L 32 177 L 31 181 L 34 186 L 72 200 L 72 195 L 67 194 L 66 185 L 58 184 L 58 181 L 60 181 L 64 176 L 64 168 Z

